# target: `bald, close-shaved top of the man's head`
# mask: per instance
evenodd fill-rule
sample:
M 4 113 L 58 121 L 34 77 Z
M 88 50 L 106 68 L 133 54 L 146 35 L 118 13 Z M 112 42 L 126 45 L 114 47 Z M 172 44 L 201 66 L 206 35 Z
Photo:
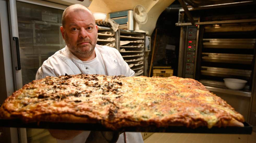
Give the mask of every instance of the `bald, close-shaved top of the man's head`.
M 74 4 L 74 5 L 70 5 L 68 6 L 63 14 L 62 14 L 62 19 L 61 19 L 61 22 L 62 22 L 62 26 L 65 27 L 65 24 L 66 24 L 66 15 L 67 13 L 69 12 L 78 12 L 78 11 L 88 11 L 91 15 L 92 15 L 92 12 L 85 6 L 81 5 L 81 4 Z M 94 16 L 92 15 L 92 17 L 94 18 Z M 95 19 L 94 19 L 95 21 Z

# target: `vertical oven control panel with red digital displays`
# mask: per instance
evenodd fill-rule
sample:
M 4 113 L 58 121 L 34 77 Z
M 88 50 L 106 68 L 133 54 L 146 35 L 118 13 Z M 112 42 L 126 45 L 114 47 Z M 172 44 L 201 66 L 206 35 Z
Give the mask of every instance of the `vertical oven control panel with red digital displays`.
M 185 78 L 194 78 L 195 72 L 195 60 L 196 60 L 196 38 L 197 38 L 197 26 L 188 26 L 187 29 L 187 39 L 185 41 L 185 67 L 184 67 L 184 76 Z

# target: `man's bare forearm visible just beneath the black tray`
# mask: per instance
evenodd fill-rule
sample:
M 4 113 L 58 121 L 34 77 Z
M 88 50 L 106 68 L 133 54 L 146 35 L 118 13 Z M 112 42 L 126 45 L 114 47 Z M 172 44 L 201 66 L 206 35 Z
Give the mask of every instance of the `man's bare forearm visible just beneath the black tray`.
M 73 139 L 75 136 L 79 135 L 83 131 L 77 131 L 77 130 L 54 130 L 49 129 L 50 134 L 60 140 L 70 140 Z

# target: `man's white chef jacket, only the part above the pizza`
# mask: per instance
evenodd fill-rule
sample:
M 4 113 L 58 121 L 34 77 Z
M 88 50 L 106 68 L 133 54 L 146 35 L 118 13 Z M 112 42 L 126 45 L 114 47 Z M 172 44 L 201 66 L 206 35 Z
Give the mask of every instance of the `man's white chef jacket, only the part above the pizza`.
M 105 64 L 108 76 L 118 76 L 121 74 L 126 77 L 134 76 L 134 71 L 130 69 L 117 49 L 98 44 L 96 44 L 95 48 L 100 51 L 103 57 L 103 63 Z M 45 78 L 46 76 L 58 77 L 66 73 L 86 73 L 83 61 L 74 56 L 67 46 L 44 61 L 37 71 L 36 79 Z

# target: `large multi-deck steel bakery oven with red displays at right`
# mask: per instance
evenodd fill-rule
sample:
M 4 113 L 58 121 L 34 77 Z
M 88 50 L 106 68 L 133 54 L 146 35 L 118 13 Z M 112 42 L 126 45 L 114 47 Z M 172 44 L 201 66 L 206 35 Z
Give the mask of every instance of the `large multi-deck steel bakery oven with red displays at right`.
M 219 13 L 214 12 L 217 8 Z M 225 12 L 217 8 L 190 9 L 194 24 L 183 9 L 179 11 L 176 23 L 181 26 L 178 76 L 200 81 L 255 124 L 256 15 L 242 6 L 225 8 Z M 232 13 L 231 9 L 239 13 Z M 226 87 L 224 78 L 242 79 L 247 83 L 242 90 L 233 90 Z

